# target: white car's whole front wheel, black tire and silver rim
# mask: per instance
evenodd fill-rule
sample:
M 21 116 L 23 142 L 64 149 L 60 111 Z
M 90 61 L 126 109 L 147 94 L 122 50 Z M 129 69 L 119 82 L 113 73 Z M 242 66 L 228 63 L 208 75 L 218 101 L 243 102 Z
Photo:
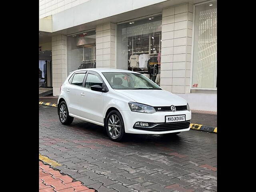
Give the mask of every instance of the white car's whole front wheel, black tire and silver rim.
M 124 131 L 124 121 L 122 115 L 117 110 L 112 110 L 108 114 L 105 122 L 105 130 L 108 137 L 116 142 L 122 140 Z

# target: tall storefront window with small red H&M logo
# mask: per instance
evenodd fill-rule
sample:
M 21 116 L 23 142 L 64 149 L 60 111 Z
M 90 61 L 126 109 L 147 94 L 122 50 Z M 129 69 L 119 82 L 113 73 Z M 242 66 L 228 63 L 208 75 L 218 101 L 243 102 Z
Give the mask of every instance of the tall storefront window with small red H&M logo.
M 196 6 L 192 88 L 217 88 L 217 2 Z

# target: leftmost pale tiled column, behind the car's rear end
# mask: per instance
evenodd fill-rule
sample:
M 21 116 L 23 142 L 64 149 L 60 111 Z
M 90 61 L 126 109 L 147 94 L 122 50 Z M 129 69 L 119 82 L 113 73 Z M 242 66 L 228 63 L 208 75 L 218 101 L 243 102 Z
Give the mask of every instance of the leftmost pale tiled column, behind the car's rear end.
M 66 36 L 52 36 L 53 96 L 60 95 L 60 86 L 67 78 Z

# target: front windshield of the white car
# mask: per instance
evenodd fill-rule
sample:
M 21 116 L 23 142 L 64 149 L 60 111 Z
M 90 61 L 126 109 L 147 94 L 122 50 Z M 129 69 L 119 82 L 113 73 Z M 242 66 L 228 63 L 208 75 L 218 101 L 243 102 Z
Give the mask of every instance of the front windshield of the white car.
M 103 72 L 104 77 L 113 89 L 154 89 L 162 90 L 146 76 L 129 72 Z

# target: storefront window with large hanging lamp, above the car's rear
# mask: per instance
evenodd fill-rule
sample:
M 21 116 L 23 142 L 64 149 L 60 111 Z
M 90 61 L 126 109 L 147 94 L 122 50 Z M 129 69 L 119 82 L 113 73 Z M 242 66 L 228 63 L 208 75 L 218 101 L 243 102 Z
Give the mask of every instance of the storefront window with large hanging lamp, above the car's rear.
M 68 74 L 71 71 L 96 67 L 96 32 L 67 36 Z

